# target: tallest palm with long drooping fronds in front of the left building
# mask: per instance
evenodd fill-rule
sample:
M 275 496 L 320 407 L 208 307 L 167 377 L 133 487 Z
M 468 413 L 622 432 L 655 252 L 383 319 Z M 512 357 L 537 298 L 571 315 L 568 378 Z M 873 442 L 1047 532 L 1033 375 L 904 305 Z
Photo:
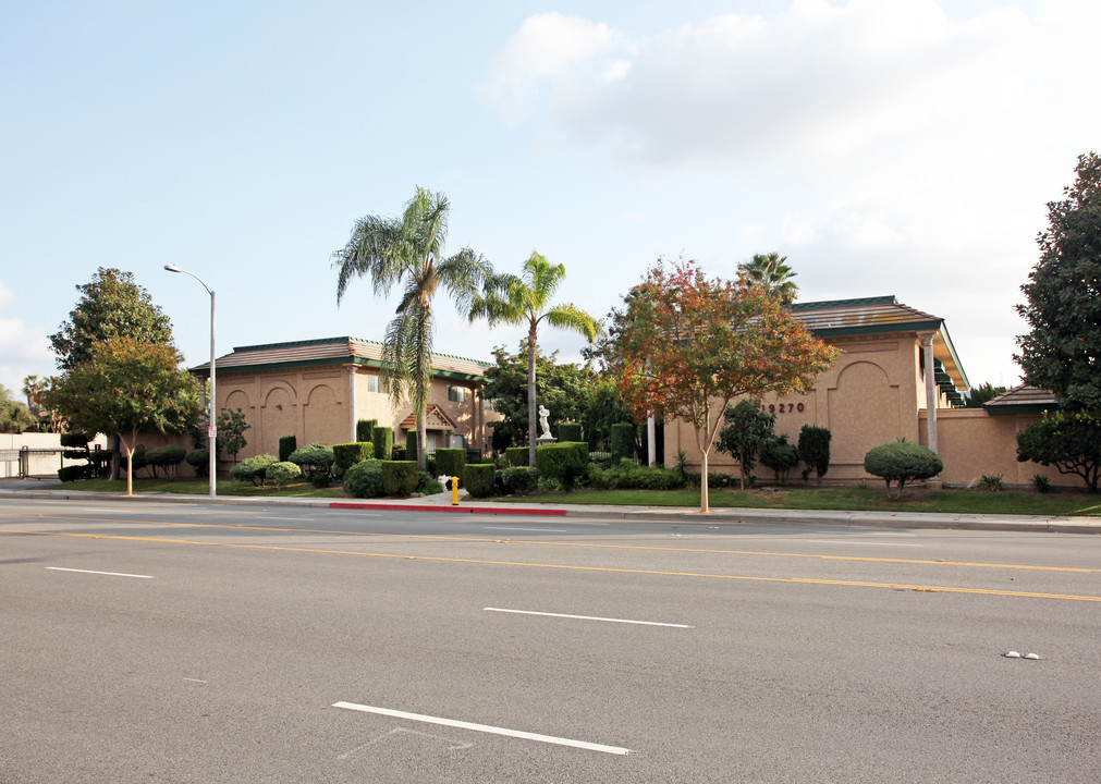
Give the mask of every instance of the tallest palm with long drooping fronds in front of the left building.
M 368 215 L 356 221 L 351 239 L 333 253 L 339 269 L 337 304 L 356 277 L 370 277 L 377 295 L 403 283 L 396 316 L 382 344 L 383 388 L 395 405 L 404 400 L 416 413 L 417 462 L 425 469 L 424 415 L 432 386 L 432 300 L 440 286 L 466 312 L 478 288 L 492 274 L 490 264 L 469 248 L 443 258 L 451 205 L 443 193 L 417 187 L 400 219 Z

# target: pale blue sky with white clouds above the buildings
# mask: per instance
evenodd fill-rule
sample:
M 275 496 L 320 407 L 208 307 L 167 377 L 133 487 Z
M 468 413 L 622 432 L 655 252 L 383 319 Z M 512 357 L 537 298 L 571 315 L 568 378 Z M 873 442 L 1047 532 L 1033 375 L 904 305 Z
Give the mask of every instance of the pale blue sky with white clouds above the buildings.
M 1018 382 L 1014 306 L 1047 203 L 1098 150 L 1095 0 L 0 3 L 0 384 L 100 266 L 188 364 L 381 340 L 396 298 L 331 253 L 417 186 L 447 252 L 566 268 L 603 317 L 658 258 L 733 277 L 776 251 L 800 302 L 893 294 L 945 319 L 974 385 Z M 435 349 L 520 327 L 437 297 Z M 576 361 L 584 338 L 544 328 Z

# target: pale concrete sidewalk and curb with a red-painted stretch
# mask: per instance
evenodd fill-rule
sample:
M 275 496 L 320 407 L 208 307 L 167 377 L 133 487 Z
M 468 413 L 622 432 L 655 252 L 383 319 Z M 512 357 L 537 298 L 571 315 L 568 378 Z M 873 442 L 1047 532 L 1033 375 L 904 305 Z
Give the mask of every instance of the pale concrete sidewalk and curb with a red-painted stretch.
M 753 525 L 814 523 L 816 525 L 868 526 L 889 529 L 957 529 L 970 531 L 1020 531 L 1040 533 L 1101 534 L 1101 518 L 1037 516 L 1024 514 L 957 514 L 930 512 L 859 512 L 791 509 L 712 509 L 700 514 L 696 509 L 671 507 L 610 507 L 552 503 L 494 503 L 467 498 L 459 491 L 458 507 L 451 505 L 451 493 L 443 492 L 416 499 L 323 498 L 238 498 L 221 496 L 186 496 L 182 493 L 140 493 L 132 497 L 116 493 L 87 492 L 66 489 L 39 480 L 0 479 L 0 499 L 41 498 L 54 500 L 127 500 L 134 503 L 224 503 L 238 505 L 285 504 L 329 509 L 386 509 L 393 512 L 442 512 L 465 514 L 503 514 L 599 518 L 644 522 L 676 522 L 700 525 Z

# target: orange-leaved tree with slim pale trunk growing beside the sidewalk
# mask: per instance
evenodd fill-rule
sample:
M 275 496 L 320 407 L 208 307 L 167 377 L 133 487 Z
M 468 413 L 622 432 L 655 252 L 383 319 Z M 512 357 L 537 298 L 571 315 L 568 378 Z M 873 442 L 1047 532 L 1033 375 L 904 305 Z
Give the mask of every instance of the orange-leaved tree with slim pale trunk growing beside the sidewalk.
M 628 406 L 693 427 L 700 512 L 709 511 L 707 464 L 727 405 L 765 392 L 805 393 L 839 353 L 744 274 L 709 279 L 684 259 L 658 260 L 610 320 L 601 355 Z

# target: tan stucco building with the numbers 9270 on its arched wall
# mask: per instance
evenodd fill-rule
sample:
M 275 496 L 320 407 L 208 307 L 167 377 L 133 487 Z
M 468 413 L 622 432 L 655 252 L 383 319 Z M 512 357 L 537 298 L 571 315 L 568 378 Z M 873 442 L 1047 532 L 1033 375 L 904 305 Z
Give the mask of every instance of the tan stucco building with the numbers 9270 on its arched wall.
M 1075 477 L 1054 468 L 1016 461 L 1016 433 L 1055 407 L 1044 393 L 1003 395 L 984 409 L 958 407 L 969 389 L 942 318 L 903 305 L 894 296 L 796 303 L 792 311 L 817 337 L 841 350 L 805 395 L 766 395 L 776 414 L 776 434 L 792 443 L 803 425 L 828 427 L 832 435 L 827 480 L 881 481 L 864 471 L 873 446 L 905 438 L 929 446 L 945 469 L 939 479 L 968 484 L 982 475 L 1001 473 L 1007 484 L 1027 484 L 1036 473 L 1053 483 Z M 713 415 L 721 416 L 718 404 Z M 684 449 L 689 465 L 700 465 L 693 432 L 684 422 L 666 423 L 666 459 Z M 733 472 L 737 464 L 712 450 L 709 470 Z M 767 480 L 771 471 L 757 469 Z

